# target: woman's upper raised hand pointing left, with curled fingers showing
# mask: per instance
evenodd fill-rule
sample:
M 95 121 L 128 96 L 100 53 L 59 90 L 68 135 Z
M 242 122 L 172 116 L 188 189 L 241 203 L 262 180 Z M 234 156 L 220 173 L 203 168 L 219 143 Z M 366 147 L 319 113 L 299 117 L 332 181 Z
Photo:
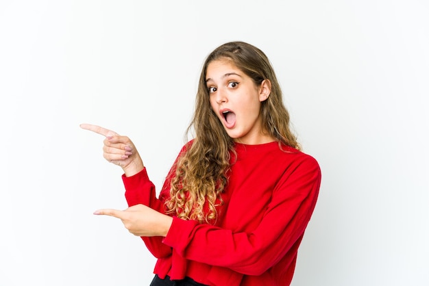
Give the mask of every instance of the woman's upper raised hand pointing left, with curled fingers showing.
M 143 161 L 130 138 L 97 125 L 81 124 L 80 127 L 106 136 L 103 141 L 103 157 L 110 163 L 120 166 L 125 176 L 131 177 L 143 170 Z

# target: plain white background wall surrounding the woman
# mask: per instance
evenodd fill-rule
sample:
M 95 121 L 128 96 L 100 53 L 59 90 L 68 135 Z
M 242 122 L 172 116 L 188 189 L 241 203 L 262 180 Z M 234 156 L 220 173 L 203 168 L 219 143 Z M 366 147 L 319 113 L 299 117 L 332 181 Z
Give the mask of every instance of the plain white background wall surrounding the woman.
M 0 285 L 149 285 L 93 123 L 158 190 L 204 58 L 256 45 L 323 172 L 293 286 L 429 285 L 429 3 L 0 1 Z

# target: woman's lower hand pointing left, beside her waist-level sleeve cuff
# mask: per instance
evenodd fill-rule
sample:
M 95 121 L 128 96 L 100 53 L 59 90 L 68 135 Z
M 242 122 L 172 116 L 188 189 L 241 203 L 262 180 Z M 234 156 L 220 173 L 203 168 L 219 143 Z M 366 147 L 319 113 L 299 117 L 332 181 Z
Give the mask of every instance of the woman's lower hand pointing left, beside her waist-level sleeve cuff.
M 99 209 L 95 215 L 113 216 L 121 219 L 125 228 L 136 236 L 166 236 L 173 218 L 145 205 L 134 205 L 120 211 L 118 209 Z

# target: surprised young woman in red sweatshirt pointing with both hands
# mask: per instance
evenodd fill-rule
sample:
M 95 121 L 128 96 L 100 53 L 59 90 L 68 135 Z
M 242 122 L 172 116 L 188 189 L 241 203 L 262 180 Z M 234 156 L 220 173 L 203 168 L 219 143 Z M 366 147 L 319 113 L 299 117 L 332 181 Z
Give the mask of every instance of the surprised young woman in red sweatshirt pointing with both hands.
M 291 283 L 297 249 L 321 182 L 299 151 L 274 70 L 260 49 L 228 42 L 201 71 L 187 142 L 156 197 L 136 147 L 105 135 L 103 156 L 123 168 L 120 218 L 158 259 L 151 285 L 260 286 Z

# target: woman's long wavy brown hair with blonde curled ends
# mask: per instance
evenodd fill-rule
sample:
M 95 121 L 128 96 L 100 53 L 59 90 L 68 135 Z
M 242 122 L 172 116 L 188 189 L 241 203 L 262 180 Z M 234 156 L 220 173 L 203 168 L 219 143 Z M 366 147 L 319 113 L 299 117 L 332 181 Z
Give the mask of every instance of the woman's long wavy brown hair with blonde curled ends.
M 222 203 L 221 193 L 228 184 L 230 157 L 235 154 L 234 141 L 213 112 L 206 86 L 208 65 L 225 59 L 252 78 L 256 86 L 265 79 L 271 82 L 271 94 L 261 103 L 262 127 L 278 141 L 279 148 L 284 144 L 300 149 L 291 131 L 280 84 L 265 53 L 246 42 L 228 42 L 217 47 L 206 58 L 199 77 L 195 112 L 186 130 L 187 134 L 193 130 L 193 142 L 172 169 L 175 175 L 171 180 L 170 198 L 166 201 L 167 213 L 184 220 L 215 222 L 217 206 Z

